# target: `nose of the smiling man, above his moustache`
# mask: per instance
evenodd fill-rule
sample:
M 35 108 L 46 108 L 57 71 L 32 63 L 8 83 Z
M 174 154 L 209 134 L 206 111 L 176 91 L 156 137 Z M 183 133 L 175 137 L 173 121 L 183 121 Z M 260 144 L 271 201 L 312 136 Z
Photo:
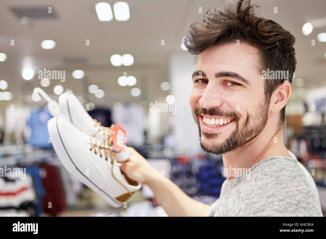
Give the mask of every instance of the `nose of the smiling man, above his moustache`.
M 199 104 L 202 108 L 208 109 L 222 104 L 221 94 L 219 93 L 218 86 L 207 84 L 204 93 L 199 99 Z

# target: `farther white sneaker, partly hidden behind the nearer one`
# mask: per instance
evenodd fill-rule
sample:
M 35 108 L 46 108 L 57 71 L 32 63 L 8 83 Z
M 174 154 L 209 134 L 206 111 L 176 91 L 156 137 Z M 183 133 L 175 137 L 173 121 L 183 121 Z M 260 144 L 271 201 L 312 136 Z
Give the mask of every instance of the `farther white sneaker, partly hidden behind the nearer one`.
M 124 146 L 124 152 L 117 149 L 112 144 L 110 128 L 103 127 L 101 123 L 93 120 L 74 94 L 65 92 L 59 96 L 58 101 L 61 113 L 65 115 L 74 126 L 88 135 L 104 141 L 105 145 L 109 145 L 110 149 L 115 152 L 115 158 L 118 161 L 123 162 L 129 159 L 127 146 Z

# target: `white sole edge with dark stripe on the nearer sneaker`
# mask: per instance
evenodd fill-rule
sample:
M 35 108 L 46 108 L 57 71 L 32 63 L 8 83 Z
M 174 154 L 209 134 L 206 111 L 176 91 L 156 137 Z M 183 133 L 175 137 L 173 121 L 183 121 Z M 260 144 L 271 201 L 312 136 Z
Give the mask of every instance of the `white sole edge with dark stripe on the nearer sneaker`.
M 93 181 L 91 181 L 88 177 L 82 174 L 81 170 L 76 166 L 74 161 L 69 156 L 69 153 L 67 152 L 66 147 L 61 139 L 61 135 L 57 125 L 57 117 L 53 117 L 48 121 L 48 131 L 49 136 L 52 138 L 52 146 L 55 150 L 55 153 L 57 153 L 61 163 L 63 164 L 63 166 L 65 166 L 67 171 L 73 176 L 75 176 L 87 187 L 92 189 L 95 193 L 100 195 L 112 207 L 116 208 L 123 206 L 122 202 L 115 200 L 108 193 L 100 189 Z

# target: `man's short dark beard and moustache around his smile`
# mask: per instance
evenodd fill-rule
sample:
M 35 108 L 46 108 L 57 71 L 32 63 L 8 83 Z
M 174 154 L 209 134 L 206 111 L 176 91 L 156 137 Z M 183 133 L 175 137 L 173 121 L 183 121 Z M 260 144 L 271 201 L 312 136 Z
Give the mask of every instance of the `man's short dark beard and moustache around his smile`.
M 223 154 L 235 150 L 236 148 L 244 146 L 247 142 L 254 139 L 265 128 L 268 119 L 269 100 L 264 100 L 257 108 L 256 114 L 248 113 L 246 119 L 241 119 L 241 115 L 235 112 L 224 112 L 220 108 L 195 108 L 194 119 L 198 125 L 200 146 L 207 153 Z M 231 132 L 223 142 L 214 143 L 210 139 L 216 139 L 221 134 L 201 132 L 199 115 L 206 114 L 213 116 L 220 116 L 221 118 L 232 118 L 236 123 L 236 128 Z M 205 142 L 208 141 L 208 142 Z M 204 142 L 204 143 L 203 143 Z

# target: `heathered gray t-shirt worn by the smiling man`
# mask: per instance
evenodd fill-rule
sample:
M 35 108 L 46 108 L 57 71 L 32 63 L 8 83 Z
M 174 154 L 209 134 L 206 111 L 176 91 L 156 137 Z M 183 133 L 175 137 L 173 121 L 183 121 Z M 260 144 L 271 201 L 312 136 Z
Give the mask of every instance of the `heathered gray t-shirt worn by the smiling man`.
M 294 154 L 289 154 L 292 158 L 266 158 L 225 180 L 208 216 L 322 217 L 314 180 Z

